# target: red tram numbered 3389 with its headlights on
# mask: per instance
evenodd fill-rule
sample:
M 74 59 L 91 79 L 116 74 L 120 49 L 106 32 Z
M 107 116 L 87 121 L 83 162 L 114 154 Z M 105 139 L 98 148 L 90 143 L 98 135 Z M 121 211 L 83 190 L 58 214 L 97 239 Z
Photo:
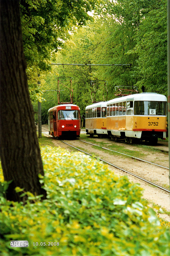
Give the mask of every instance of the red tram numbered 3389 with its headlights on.
M 48 110 L 49 135 L 80 137 L 80 108 L 73 104 L 58 105 Z

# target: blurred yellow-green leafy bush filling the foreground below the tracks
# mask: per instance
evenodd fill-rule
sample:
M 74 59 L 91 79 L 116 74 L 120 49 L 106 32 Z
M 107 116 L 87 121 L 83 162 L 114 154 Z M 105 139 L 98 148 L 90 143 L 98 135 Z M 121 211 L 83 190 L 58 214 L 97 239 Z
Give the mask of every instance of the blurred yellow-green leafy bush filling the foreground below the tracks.
M 170 232 L 138 184 L 79 152 L 43 147 L 41 155 L 47 199 L 28 193 L 23 205 L 1 197 L 1 255 L 169 255 Z M 29 246 L 12 248 L 11 240 Z

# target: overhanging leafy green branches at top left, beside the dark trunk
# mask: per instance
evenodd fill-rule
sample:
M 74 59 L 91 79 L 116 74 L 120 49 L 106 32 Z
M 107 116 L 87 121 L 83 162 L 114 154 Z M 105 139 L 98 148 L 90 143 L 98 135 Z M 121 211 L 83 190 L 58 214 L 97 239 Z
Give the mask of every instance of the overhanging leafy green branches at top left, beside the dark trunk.
M 63 46 L 75 26 L 92 19 L 94 0 L 20 0 L 24 53 L 28 66 L 50 68 L 54 52 Z

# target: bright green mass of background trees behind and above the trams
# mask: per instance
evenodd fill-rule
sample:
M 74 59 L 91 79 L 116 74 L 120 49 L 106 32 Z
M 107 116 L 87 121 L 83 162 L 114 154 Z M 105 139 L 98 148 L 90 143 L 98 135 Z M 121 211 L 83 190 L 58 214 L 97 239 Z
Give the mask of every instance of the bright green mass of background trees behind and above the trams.
M 94 15 L 93 23 L 88 22 L 76 30 L 65 42 L 64 49 L 55 53 L 54 62 L 123 63 L 131 67 L 54 66 L 54 77 L 74 78 L 74 103 L 80 107 L 81 114 L 92 103 L 91 80 L 108 81 L 108 99 L 115 97 L 116 85 L 136 85 L 139 92 L 145 90 L 167 96 L 166 1 L 103 0 L 100 3 L 97 10 L 100 16 Z M 45 80 L 48 89 L 50 84 L 51 88 L 56 86 L 51 74 Z M 51 99 L 46 95 L 46 100 Z M 102 85 L 96 100 L 103 100 Z M 55 104 L 55 100 L 53 102 Z M 47 108 L 43 111 L 46 113 Z

